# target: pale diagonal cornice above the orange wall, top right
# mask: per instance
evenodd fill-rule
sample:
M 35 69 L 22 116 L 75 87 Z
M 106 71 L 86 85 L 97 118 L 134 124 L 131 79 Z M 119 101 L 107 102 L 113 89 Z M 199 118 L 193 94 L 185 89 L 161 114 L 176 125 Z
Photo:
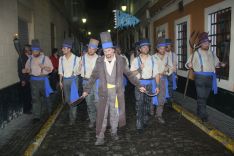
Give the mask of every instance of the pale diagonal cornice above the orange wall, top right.
M 152 18 L 151 18 L 151 21 L 154 22 L 156 20 L 159 20 L 160 18 L 162 17 L 165 17 L 166 15 L 178 10 L 178 3 L 180 2 L 181 0 L 176 0 L 173 4 L 169 5 L 167 8 L 163 9 L 161 12 L 159 12 L 159 14 L 156 14 L 154 15 Z M 188 5 L 189 3 L 193 2 L 194 0 L 183 0 L 183 5 L 184 7 L 186 5 Z

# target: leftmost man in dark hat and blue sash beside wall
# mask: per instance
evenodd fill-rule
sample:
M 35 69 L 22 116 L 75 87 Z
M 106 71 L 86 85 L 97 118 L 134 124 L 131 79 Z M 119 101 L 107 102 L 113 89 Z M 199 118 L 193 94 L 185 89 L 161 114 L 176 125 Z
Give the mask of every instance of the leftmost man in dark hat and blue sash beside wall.
M 51 113 L 51 103 L 49 95 L 52 89 L 49 84 L 48 74 L 52 72 L 53 65 L 49 57 L 41 54 L 40 43 L 37 39 L 32 40 L 32 56 L 25 64 L 23 73 L 29 73 L 31 93 L 32 93 L 32 113 L 33 122 L 40 121 L 42 110 L 47 107 L 48 113 Z M 43 103 L 45 101 L 46 103 Z

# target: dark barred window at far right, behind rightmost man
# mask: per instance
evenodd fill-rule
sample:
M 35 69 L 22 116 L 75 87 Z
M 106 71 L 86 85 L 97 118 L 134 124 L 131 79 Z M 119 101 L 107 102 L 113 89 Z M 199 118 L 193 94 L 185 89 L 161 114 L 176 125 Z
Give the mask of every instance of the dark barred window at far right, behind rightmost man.
M 208 29 L 211 39 L 211 50 L 216 53 L 226 67 L 216 71 L 218 77 L 227 80 L 229 77 L 229 55 L 231 36 L 231 7 L 208 14 Z

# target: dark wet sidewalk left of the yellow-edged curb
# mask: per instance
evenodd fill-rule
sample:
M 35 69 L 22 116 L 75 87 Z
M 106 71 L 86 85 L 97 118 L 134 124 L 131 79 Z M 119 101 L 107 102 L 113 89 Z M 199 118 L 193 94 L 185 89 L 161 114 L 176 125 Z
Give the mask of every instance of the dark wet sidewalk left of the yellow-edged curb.
M 51 96 L 53 109 L 60 103 L 60 94 Z M 32 114 L 22 114 L 9 121 L 5 128 L 0 129 L 0 156 L 21 156 L 34 137 L 47 121 L 49 114 L 43 114 L 39 122 L 33 122 Z

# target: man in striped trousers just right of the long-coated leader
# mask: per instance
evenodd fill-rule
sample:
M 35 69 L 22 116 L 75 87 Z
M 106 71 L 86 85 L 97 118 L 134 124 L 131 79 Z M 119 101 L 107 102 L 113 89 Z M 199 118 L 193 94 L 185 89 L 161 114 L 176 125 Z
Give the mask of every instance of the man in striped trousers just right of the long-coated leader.
M 158 65 L 154 58 L 149 55 L 150 42 L 147 39 L 140 41 L 140 54 L 134 58 L 131 64 L 131 71 L 140 80 L 141 85 L 153 93 L 159 93 Z M 157 85 L 156 85 L 157 84 Z M 150 108 L 157 104 L 157 97 L 149 97 L 135 90 L 136 98 L 136 128 L 139 134 L 143 133 L 143 128 L 147 126 Z

